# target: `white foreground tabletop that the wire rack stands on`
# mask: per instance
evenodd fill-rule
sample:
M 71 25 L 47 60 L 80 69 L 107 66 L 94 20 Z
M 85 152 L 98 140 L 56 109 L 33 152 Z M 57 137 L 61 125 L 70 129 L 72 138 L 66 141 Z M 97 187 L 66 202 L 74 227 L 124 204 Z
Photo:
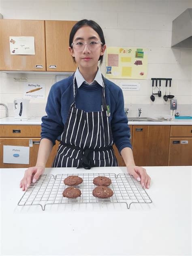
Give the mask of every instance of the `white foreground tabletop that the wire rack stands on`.
M 17 206 L 25 169 L 0 169 L 1 255 L 191 255 L 192 166 L 145 167 L 149 204 Z M 45 174 L 126 173 L 126 167 Z

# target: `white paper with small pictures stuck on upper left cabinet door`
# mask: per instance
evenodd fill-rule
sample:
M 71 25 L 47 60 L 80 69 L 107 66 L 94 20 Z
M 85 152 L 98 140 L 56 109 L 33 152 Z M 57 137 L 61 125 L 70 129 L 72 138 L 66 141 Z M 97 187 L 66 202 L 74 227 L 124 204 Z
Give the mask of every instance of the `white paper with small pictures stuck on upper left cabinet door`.
M 35 55 L 34 36 L 9 36 L 11 55 Z

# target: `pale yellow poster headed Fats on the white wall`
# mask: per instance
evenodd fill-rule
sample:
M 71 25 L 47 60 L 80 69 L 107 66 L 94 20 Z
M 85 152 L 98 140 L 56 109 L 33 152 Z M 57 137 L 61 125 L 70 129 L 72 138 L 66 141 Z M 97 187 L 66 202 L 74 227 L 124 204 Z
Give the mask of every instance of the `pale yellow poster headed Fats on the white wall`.
M 106 78 L 147 79 L 147 48 L 107 47 Z

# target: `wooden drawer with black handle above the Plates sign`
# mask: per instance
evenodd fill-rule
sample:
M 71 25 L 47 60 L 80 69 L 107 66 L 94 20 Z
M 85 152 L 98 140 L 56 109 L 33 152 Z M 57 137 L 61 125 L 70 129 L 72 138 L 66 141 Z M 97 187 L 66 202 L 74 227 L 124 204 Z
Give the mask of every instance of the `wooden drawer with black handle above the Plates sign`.
M 41 125 L 0 125 L 0 137 L 39 138 L 41 137 Z

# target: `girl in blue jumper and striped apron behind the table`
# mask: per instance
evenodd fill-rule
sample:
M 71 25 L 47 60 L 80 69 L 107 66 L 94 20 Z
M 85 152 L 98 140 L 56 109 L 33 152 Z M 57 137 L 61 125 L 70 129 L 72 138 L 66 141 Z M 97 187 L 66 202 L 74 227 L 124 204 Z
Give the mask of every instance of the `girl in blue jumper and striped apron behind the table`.
M 20 188 L 26 190 L 44 173 L 56 139 L 60 145 L 52 167 L 117 166 L 115 143 L 128 173 L 149 188 L 149 175 L 134 163 L 122 90 L 98 68 L 106 49 L 102 29 L 95 21 L 78 21 L 70 32 L 68 49 L 78 68 L 51 87 L 36 166 L 25 171 Z

